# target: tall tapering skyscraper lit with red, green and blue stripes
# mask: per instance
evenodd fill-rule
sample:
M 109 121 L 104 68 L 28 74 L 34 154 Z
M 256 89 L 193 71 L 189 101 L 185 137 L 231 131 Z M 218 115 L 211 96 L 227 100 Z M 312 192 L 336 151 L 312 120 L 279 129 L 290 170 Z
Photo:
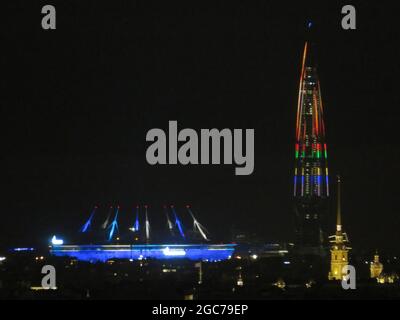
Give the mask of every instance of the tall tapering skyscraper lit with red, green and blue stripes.
M 313 45 L 305 43 L 296 117 L 294 190 L 297 244 L 318 251 L 329 197 L 328 151 Z

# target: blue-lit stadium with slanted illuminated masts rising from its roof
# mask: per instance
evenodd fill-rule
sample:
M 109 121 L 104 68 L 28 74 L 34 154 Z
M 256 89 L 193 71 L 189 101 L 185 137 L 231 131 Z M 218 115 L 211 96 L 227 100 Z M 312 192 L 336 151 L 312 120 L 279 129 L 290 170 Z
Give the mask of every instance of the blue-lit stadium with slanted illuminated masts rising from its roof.
M 188 212 L 187 217 L 192 220 L 193 228 L 185 231 L 176 208 L 171 205 L 169 208 L 164 206 L 163 209 L 168 227 L 167 238 L 169 238 L 164 238 L 164 243 L 168 244 L 154 242 L 147 205 L 143 206 L 142 223 L 140 223 L 140 206 L 136 206 L 133 225 L 121 229 L 118 221 L 121 213 L 120 206 L 110 206 L 108 210 L 103 212 L 103 215 L 107 213 L 106 219 L 97 221 L 97 223 L 96 216 L 97 219 L 101 219 L 99 217 L 101 208 L 94 206 L 89 218 L 80 229 L 80 235 L 84 236 L 84 239 L 81 238 L 78 241 L 82 244 L 64 244 L 61 238 L 54 235 L 51 239 L 50 253 L 57 257 L 70 257 L 88 262 L 106 262 L 112 259 L 188 259 L 213 262 L 227 260 L 233 255 L 235 244 L 205 243 L 210 241 L 207 230 L 196 219 L 190 206 L 186 206 L 186 210 Z M 100 212 L 98 212 L 99 210 Z M 99 230 L 100 234 L 104 234 L 106 239 L 96 238 L 96 235 L 99 234 L 96 230 Z M 122 243 L 126 241 L 125 244 L 115 243 L 120 240 Z M 131 241 L 140 244 L 129 244 Z M 93 242 L 98 244 L 87 244 Z

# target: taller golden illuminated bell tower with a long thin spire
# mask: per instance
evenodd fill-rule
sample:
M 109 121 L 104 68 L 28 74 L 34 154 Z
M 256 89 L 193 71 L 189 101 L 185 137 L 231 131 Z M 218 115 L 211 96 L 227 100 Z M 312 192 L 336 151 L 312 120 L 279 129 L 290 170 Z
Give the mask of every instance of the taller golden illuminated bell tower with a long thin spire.
M 331 246 L 331 271 L 329 280 L 342 280 L 343 267 L 348 265 L 348 253 L 350 248 L 346 246 L 348 242 L 347 234 L 342 230 L 342 213 L 340 203 L 340 176 L 337 177 L 337 216 L 336 216 L 336 234 L 330 236 Z

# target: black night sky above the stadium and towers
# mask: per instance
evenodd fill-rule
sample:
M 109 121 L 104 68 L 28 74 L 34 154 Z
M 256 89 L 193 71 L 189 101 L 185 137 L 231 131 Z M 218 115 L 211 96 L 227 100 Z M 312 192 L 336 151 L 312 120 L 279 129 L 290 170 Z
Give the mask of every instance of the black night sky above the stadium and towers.
M 296 3 L 296 4 L 295 4 Z M 318 4 L 319 3 L 319 4 Z M 93 205 L 190 203 L 215 239 L 232 226 L 293 240 L 294 131 L 313 20 L 331 175 L 353 247 L 400 241 L 399 26 L 381 1 L 7 1 L 1 10 L 0 247 L 73 234 Z M 41 28 L 53 4 L 57 29 Z M 255 171 L 150 166 L 152 128 L 254 128 Z M 333 177 L 331 177 L 333 181 Z M 333 186 L 332 186 L 333 188 Z M 329 233 L 334 230 L 331 206 Z

